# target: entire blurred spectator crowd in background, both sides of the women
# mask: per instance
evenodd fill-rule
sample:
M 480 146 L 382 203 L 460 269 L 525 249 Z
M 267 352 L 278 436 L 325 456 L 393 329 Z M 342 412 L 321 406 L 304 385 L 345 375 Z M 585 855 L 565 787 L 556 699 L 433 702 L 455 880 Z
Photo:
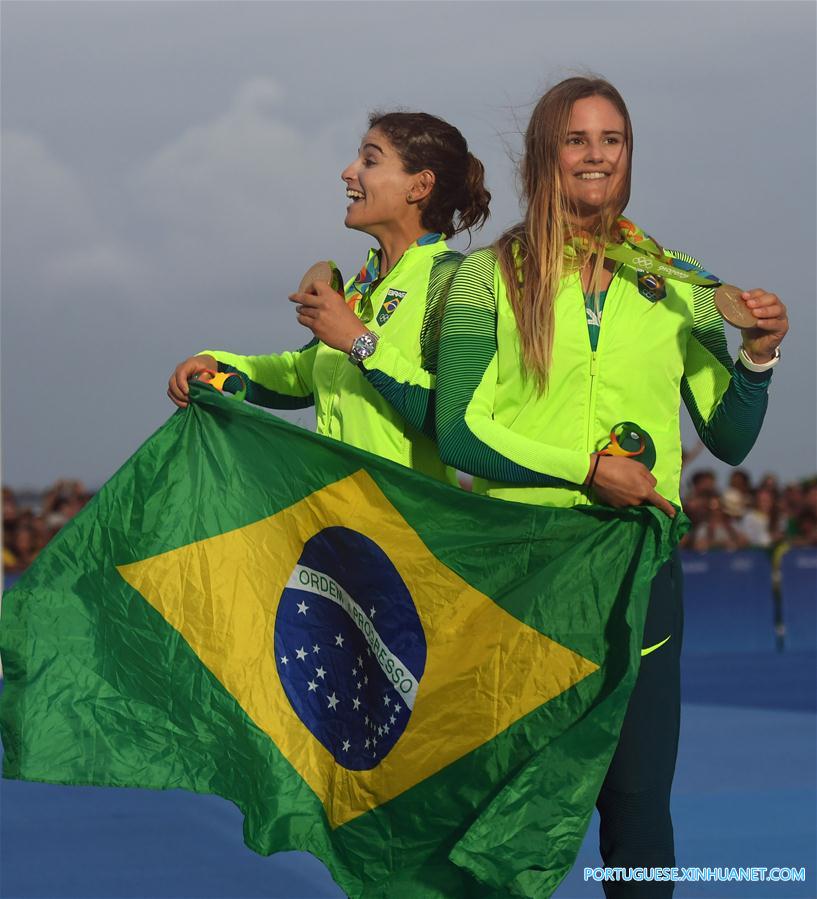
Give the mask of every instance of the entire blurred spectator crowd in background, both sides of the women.
M 753 484 L 746 471 L 737 469 L 721 489 L 713 471 L 698 470 L 686 482 L 684 511 L 692 528 L 681 543 L 684 549 L 817 546 L 817 477 L 781 485 L 767 474 Z M 24 571 L 91 496 L 81 481 L 62 480 L 23 504 L 3 487 L 4 572 Z

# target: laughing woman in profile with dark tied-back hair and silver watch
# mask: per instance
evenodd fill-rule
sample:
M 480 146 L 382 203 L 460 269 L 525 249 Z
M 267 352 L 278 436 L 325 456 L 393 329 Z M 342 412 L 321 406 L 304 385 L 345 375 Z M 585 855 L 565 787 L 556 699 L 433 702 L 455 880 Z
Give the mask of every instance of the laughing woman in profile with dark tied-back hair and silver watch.
M 176 367 L 168 396 L 184 407 L 190 378 L 235 372 L 250 402 L 314 405 L 319 434 L 455 483 L 434 439 L 439 322 L 463 258 L 445 238 L 488 218 L 482 163 L 436 116 L 374 113 L 341 178 L 346 227 L 379 247 L 345 285 L 317 280 L 290 296 L 314 339 L 276 355 L 205 350 Z

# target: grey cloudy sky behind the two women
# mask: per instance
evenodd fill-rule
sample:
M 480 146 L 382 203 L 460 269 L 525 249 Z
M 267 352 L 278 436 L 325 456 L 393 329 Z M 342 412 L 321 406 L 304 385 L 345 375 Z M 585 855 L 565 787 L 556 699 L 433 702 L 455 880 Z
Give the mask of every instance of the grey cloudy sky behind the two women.
M 165 389 L 177 362 L 309 339 L 287 294 L 318 259 L 348 277 L 371 245 L 343 227 L 340 180 L 370 110 L 460 128 L 494 196 L 476 248 L 519 217 L 515 161 L 533 104 L 587 72 L 619 88 L 633 119 L 629 217 L 787 304 L 791 331 L 743 467 L 814 474 L 816 10 L 4 0 L 3 483 L 96 488 L 175 410 Z M 284 417 L 314 427 L 309 411 Z M 683 433 L 694 445 L 688 420 Z M 706 452 L 690 471 L 702 467 L 728 471 Z

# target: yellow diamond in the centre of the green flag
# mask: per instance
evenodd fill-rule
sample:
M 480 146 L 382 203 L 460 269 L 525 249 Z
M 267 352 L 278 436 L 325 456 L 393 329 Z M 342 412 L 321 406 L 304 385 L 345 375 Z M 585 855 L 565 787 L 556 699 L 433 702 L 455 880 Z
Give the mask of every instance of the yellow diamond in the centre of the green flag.
M 328 562 L 304 561 L 310 541 L 338 528 L 371 541 L 405 585 L 426 644 L 422 672 L 410 670 L 392 651 L 366 596 L 349 593 L 329 573 Z M 118 571 L 275 742 L 318 796 L 332 827 L 399 796 L 598 668 L 514 618 L 443 565 L 362 470 L 261 521 Z M 362 663 L 352 663 L 354 674 L 344 672 L 357 679 L 355 698 L 341 690 L 331 660 L 348 641 L 342 630 L 322 656 L 318 644 L 303 642 L 276 658 L 276 622 L 288 593 L 301 597 L 296 623 L 299 615 L 304 622 L 309 615 L 344 618 L 364 641 L 367 664 L 376 666 L 393 691 L 367 693 L 364 671 L 372 668 Z M 301 699 L 292 692 L 288 672 L 306 672 L 298 666 L 307 664 L 311 679 L 303 675 Z M 397 698 L 389 700 L 390 695 Z M 304 720 L 306 706 L 300 714 L 296 708 L 318 697 L 326 722 L 322 739 Z M 380 707 L 377 717 L 373 706 L 381 700 L 388 707 Z M 338 737 L 332 751 L 327 748 L 327 734 L 339 733 L 333 716 L 345 714 L 348 720 L 351 702 L 358 703 L 354 714 L 363 728 L 358 750 L 363 751 L 364 734 L 368 741 L 365 764 L 359 754 L 354 764 L 345 762 L 350 739 Z M 401 716 L 402 732 L 399 723 L 390 729 Z M 378 740 L 388 746 L 382 757 Z

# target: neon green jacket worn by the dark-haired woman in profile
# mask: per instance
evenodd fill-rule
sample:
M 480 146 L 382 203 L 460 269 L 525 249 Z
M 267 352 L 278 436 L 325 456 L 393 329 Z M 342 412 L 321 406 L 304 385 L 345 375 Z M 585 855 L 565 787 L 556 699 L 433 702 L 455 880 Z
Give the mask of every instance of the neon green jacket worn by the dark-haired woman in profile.
M 367 283 L 354 310 L 380 340 L 360 365 L 317 340 L 274 355 L 202 353 L 214 356 L 220 371 L 244 378 L 250 402 L 278 409 L 314 405 L 319 434 L 456 483 L 434 440 L 434 389 L 442 307 L 462 259 L 440 235 L 425 235 L 384 278 Z M 375 275 L 378 263 L 372 251 L 368 265 Z M 354 292 L 354 284 L 347 291 Z

